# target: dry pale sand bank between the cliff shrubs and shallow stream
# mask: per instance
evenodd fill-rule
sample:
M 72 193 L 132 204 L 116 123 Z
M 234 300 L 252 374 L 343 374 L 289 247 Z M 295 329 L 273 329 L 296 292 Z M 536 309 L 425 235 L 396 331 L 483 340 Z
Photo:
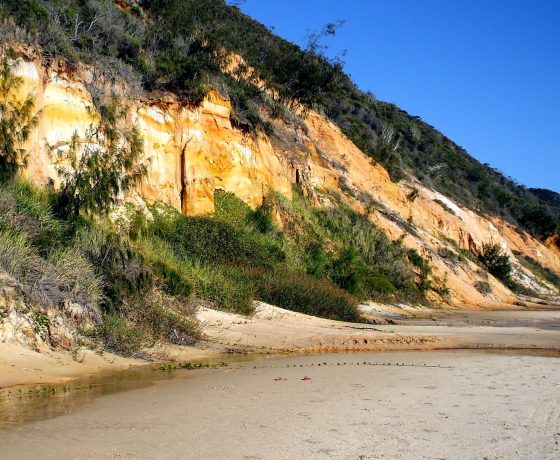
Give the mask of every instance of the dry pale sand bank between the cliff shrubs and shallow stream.
M 410 315 L 399 324 L 372 325 L 331 321 L 266 304 L 260 304 L 252 318 L 201 309 L 198 317 L 205 342 L 194 347 L 158 345 L 143 350 L 142 359 L 86 349 L 78 353 L 39 353 L 0 343 L 0 389 L 61 384 L 150 364 L 237 361 L 260 356 L 446 350 L 560 354 L 560 310 L 436 310 L 427 316 Z M 511 326 L 518 324 L 516 321 L 521 321 L 521 326 Z M 491 325 L 486 325 L 488 322 Z M 531 324 L 551 324 L 552 328 Z

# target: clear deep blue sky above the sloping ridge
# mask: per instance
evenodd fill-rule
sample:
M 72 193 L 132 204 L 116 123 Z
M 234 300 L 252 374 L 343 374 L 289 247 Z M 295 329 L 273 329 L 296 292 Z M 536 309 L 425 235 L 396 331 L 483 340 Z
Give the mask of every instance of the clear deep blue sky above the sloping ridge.
M 378 99 L 419 115 L 520 183 L 560 192 L 560 1 L 245 0 L 298 44 L 325 44 Z

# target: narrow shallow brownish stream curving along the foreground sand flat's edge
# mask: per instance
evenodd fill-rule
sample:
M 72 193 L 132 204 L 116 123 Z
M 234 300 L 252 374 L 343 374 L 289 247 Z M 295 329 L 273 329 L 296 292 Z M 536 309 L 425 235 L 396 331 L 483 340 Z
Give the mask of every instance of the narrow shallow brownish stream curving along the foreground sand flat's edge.
M 435 356 L 449 353 L 536 356 L 560 358 L 560 351 L 549 350 L 442 350 L 423 352 Z M 395 366 L 441 368 L 426 363 L 410 364 L 402 360 L 411 358 L 417 351 L 408 352 L 353 352 L 328 354 L 278 354 L 242 355 L 231 357 L 228 362 L 206 361 L 202 369 L 165 369 L 161 364 L 137 366 L 127 370 L 106 371 L 86 375 L 64 384 L 19 386 L 0 390 L 0 430 L 29 422 L 47 420 L 70 414 L 83 405 L 106 395 L 146 388 L 171 379 L 191 379 L 196 384 L 197 374 L 212 368 L 228 368 L 240 372 L 252 369 L 288 369 L 290 367 L 324 366 Z M 396 359 L 395 359 L 396 358 Z M 399 361 L 400 359 L 400 361 Z M 189 382 L 191 383 L 191 382 Z

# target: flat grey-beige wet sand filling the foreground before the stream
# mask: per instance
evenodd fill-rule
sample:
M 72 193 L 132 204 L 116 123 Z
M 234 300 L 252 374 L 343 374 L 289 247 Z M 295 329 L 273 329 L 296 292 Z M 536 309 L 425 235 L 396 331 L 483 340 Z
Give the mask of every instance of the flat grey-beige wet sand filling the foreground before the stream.
M 9 459 L 557 459 L 560 358 L 344 353 L 176 371 L 0 442 Z

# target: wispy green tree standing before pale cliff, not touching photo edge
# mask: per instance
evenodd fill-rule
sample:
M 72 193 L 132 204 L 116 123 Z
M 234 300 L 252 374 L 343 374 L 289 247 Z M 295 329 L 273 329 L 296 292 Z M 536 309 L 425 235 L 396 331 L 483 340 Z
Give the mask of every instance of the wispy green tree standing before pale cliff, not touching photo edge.
M 62 179 L 55 210 L 66 218 L 107 213 L 123 193 L 147 173 L 140 162 L 144 145 L 136 126 L 126 126 L 127 108 L 113 95 L 100 108 L 100 122 L 83 137 L 74 133 L 65 148 L 56 149 Z M 54 149 L 53 149 L 54 150 Z

